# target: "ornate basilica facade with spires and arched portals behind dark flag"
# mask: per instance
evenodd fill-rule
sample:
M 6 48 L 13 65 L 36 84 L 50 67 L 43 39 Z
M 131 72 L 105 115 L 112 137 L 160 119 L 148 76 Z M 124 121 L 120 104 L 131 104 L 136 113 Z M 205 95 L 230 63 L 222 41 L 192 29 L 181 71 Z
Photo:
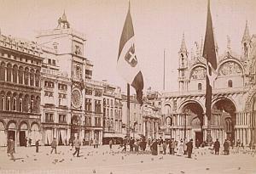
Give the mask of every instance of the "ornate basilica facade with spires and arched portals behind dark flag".
M 195 55 L 189 55 L 183 35 L 178 52 L 178 85 L 176 93 L 162 95 L 161 129 L 172 138 L 207 140 L 207 116 L 205 107 L 206 59 L 197 46 Z M 241 53 L 227 48 L 218 54 L 218 76 L 212 89 L 212 116 L 210 129 L 212 141 L 220 143 L 231 138 L 243 144 L 256 143 L 256 35 L 250 36 L 246 23 L 241 36 Z

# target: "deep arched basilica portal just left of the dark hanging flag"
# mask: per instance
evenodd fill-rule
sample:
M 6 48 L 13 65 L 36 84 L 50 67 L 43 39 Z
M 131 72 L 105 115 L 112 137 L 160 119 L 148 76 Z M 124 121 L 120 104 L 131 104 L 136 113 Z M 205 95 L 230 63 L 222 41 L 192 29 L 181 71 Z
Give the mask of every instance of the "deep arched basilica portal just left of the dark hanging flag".
M 196 101 L 189 101 L 183 105 L 181 112 L 185 114 L 185 120 L 182 120 L 186 132 L 184 137 L 193 138 L 201 144 L 204 138 L 202 130 L 203 109 L 201 104 Z

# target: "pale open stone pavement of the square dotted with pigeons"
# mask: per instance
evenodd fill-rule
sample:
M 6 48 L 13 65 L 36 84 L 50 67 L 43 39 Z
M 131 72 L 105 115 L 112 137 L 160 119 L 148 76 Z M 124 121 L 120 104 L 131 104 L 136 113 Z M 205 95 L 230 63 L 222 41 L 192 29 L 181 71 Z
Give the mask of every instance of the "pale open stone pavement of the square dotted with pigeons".
M 256 154 L 249 150 L 232 150 L 230 155 L 211 154 L 208 148 L 194 149 L 192 159 L 186 156 L 147 153 L 121 153 L 118 146 L 110 151 L 108 146 L 99 149 L 84 146 L 80 157 L 73 157 L 70 147 L 16 147 L 15 161 L 9 160 L 6 148 L 0 148 L 0 173 L 107 173 L 107 174 L 253 174 L 256 173 Z

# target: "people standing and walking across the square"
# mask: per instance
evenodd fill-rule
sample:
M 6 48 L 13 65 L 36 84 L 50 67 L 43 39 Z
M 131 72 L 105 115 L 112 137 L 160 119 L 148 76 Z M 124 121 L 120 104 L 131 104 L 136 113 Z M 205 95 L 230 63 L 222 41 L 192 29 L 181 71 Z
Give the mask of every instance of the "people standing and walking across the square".
M 109 149 L 112 150 L 113 144 L 115 144 L 115 141 L 113 139 L 109 140 Z M 153 139 L 150 138 L 124 138 L 123 142 L 120 144 L 119 149 L 121 151 L 126 152 L 127 146 L 129 147 L 130 152 L 138 152 L 138 151 L 146 151 L 150 150 L 152 155 L 157 154 L 172 154 L 177 156 L 182 155 L 188 155 L 188 158 L 191 158 L 191 154 L 193 152 L 193 139 L 187 140 L 186 138 L 180 139 L 179 141 L 175 140 L 174 138 L 171 139 Z M 212 154 L 219 154 L 219 149 L 221 148 L 221 144 L 219 143 L 218 139 L 213 144 L 213 147 L 210 145 L 210 149 L 214 150 L 215 153 Z M 84 140 L 81 141 L 79 137 L 77 138 L 70 138 L 68 141 L 68 145 L 71 147 L 70 150 L 73 150 L 73 147 L 75 148 L 75 151 L 73 152 L 73 156 L 77 155 L 79 157 L 79 151 L 81 145 L 84 145 Z M 92 145 L 95 149 L 98 148 L 99 143 L 95 139 L 91 140 L 89 145 Z M 204 147 L 206 145 L 205 142 L 200 143 L 199 140 L 195 140 L 195 148 Z M 230 139 L 225 139 L 223 143 L 224 148 L 224 155 L 230 154 L 230 149 L 234 149 L 236 145 L 236 149 L 244 149 L 243 143 L 238 139 L 236 143 L 234 141 L 231 141 Z M 31 145 L 30 145 L 31 146 Z M 57 140 L 56 138 L 53 138 L 53 141 L 50 143 L 50 154 L 55 152 L 57 154 Z M 39 140 L 35 143 L 36 147 L 36 153 L 38 153 L 39 149 Z M 253 147 L 253 143 L 249 143 L 249 149 L 255 149 Z M 8 140 L 8 146 L 7 146 L 7 153 L 10 154 L 11 160 L 15 160 L 14 153 L 15 153 L 15 141 L 14 138 L 10 137 Z

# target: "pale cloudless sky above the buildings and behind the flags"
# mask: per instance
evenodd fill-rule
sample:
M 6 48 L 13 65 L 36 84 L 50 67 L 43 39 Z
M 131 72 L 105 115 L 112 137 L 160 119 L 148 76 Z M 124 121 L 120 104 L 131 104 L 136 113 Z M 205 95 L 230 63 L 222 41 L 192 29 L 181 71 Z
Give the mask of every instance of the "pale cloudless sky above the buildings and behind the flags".
M 0 0 L 1 32 L 35 40 L 36 31 L 55 29 L 64 9 L 71 27 L 86 36 L 84 53 L 94 63 L 93 78 L 107 79 L 126 91 L 116 61 L 127 0 Z M 211 12 L 219 54 L 224 53 L 227 35 L 231 49 L 240 54 L 246 20 L 250 34 L 256 34 L 256 1 L 212 0 Z M 189 52 L 204 38 L 207 0 L 131 0 L 131 17 L 144 93 L 148 87 L 163 88 L 164 49 L 166 91 L 177 91 L 177 52 L 182 35 L 184 32 Z

